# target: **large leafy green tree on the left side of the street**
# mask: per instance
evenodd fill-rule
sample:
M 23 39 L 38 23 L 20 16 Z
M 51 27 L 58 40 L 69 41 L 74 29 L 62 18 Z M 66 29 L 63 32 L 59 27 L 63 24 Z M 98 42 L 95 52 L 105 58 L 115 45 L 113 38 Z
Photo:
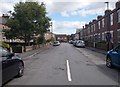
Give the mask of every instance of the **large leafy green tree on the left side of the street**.
M 50 18 L 46 16 L 45 4 L 38 2 L 19 2 L 14 6 L 14 12 L 11 12 L 11 17 L 6 25 L 10 30 L 5 30 L 5 36 L 8 39 L 24 40 L 26 44 L 35 36 L 42 37 L 50 27 Z

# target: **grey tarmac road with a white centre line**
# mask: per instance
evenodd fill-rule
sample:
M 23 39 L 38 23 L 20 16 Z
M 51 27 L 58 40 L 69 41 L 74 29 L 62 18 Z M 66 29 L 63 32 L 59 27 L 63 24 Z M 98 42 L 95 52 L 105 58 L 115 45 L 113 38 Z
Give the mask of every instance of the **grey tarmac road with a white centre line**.
M 103 54 L 62 43 L 29 56 L 24 76 L 6 85 L 118 85 L 118 70 L 104 60 Z

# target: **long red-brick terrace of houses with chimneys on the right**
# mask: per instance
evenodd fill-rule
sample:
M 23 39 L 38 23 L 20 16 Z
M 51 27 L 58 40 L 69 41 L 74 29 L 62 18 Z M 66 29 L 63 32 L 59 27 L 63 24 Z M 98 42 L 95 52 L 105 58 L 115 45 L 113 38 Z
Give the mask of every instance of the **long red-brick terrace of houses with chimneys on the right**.
M 79 36 L 86 41 L 86 45 L 106 49 L 108 32 L 114 46 L 120 43 L 120 1 L 116 2 L 115 6 L 114 10 L 106 10 L 104 16 L 99 15 L 97 19 L 83 26 Z

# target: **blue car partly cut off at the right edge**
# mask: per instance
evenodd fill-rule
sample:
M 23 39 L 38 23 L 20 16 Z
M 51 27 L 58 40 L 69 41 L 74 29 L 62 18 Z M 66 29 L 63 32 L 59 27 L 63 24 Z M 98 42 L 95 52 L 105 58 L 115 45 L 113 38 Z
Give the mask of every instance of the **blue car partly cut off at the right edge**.
M 109 68 L 120 67 L 120 45 L 107 52 L 106 66 Z

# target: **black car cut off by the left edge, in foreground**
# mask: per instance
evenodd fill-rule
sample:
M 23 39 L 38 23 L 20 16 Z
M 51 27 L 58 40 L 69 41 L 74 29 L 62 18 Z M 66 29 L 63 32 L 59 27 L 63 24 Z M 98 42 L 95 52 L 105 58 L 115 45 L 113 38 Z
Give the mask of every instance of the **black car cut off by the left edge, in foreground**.
M 3 47 L 0 47 L 0 53 L 2 62 L 2 84 L 15 76 L 21 77 L 24 72 L 24 62 L 22 59 Z

